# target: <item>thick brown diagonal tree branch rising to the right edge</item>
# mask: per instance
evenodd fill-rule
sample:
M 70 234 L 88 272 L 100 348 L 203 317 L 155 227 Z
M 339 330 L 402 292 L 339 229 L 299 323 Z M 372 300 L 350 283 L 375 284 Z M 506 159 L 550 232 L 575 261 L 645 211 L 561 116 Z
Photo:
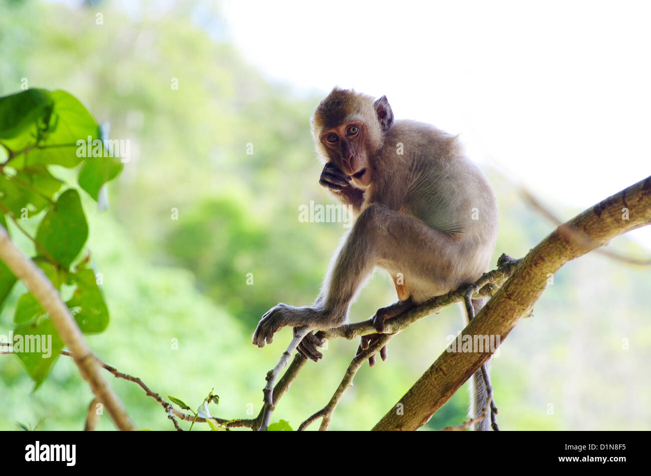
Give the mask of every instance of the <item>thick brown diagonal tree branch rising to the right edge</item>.
M 622 209 L 628 209 L 628 217 Z M 628 219 L 627 219 L 628 218 Z M 463 330 L 469 336 L 500 336 L 504 341 L 521 317 L 533 310 L 553 275 L 564 263 L 614 237 L 651 223 L 651 177 L 631 185 L 559 226 L 518 265 L 513 275 Z M 491 352 L 443 352 L 374 430 L 415 430 L 447 402 Z

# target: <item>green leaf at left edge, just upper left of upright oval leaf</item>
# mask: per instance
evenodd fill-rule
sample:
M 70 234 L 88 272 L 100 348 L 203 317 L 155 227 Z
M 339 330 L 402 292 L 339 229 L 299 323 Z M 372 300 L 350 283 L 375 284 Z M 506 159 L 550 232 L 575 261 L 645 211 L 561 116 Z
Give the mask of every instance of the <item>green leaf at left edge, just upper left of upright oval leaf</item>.
M 0 176 L 0 197 L 14 217 L 21 217 L 23 208 L 36 214 L 50 204 L 61 183 L 46 166 L 33 165 L 18 170 L 14 177 Z

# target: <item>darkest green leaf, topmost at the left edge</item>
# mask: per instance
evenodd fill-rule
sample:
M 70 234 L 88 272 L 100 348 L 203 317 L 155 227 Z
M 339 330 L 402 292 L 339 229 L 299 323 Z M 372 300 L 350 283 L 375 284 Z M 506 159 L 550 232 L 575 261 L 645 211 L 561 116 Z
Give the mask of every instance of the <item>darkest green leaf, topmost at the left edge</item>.
M 53 99 L 44 89 L 28 89 L 0 98 L 0 142 L 14 152 L 36 144 L 39 129 L 49 126 Z

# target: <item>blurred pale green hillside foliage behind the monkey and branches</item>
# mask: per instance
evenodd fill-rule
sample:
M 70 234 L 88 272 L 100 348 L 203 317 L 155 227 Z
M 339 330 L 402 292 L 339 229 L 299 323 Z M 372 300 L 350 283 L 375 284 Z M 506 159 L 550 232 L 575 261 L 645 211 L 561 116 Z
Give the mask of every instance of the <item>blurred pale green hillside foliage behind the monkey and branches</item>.
M 344 231 L 340 223 L 298 221 L 299 205 L 333 202 L 318 186 L 321 167 L 309 131 L 326 92 L 297 92 L 244 62 L 225 32 L 215 34 L 223 21 L 218 3 L 133 3 L 138 8 L 109 1 L 0 3 L 0 95 L 19 91 L 23 78 L 30 87 L 64 89 L 98 122 L 111 124 L 113 139 L 130 140 L 131 160 L 109 184 L 109 211 L 83 203 L 88 247 L 104 274 L 111 313 L 108 330 L 89 337 L 92 349 L 161 395 L 196 408 L 214 388 L 221 397 L 215 416 L 256 415 L 264 375 L 290 330 L 258 349 L 250 339 L 255 324 L 277 302 L 305 305 L 316 297 Z M 501 208 L 494 265 L 502 252 L 523 256 L 553 225 L 497 172 L 486 173 Z M 611 246 L 643 255 L 626 237 Z M 492 361 L 500 426 L 648 429 L 650 285 L 648 268 L 594 253 L 561 269 L 534 317 L 516 327 Z M 17 286 L 1 310 L 0 334 L 12 328 L 23 292 Z M 378 272 L 351 319 L 367 319 L 394 300 L 393 285 Z M 370 429 L 432 364 L 446 336 L 461 328 L 454 306 L 402 332 L 391 341 L 387 362 L 359 371 L 331 429 Z M 306 365 L 273 420 L 287 419 L 296 429 L 322 408 L 357 345 L 329 343 L 324 360 Z M 111 384 L 136 425 L 173 429 L 141 388 Z M 18 429 L 18 421 L 47 430 L 83 428 L 92 395 L 72 360 L 60 358 L 32 390 L 18 358 L 1 356 L 0 429 Z M 425 428 L 461 423 L 466 409 L 462 390 Z M 113 425 L 105 416 L 98 428 Z

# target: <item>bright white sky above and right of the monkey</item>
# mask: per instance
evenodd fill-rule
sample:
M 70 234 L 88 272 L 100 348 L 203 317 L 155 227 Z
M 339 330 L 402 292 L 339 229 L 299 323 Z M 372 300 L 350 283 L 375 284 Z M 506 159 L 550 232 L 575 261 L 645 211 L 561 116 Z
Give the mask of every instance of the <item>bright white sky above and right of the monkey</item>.
M 588 207 L 651 174 L 649 2 L 230 0 L 224 10 L 267 77 L 386 94 L 397 118 L 462 133 L 473 160 L 492 157 L 551 204 Z M 651 230 L 631 235 L 651 248 Z

